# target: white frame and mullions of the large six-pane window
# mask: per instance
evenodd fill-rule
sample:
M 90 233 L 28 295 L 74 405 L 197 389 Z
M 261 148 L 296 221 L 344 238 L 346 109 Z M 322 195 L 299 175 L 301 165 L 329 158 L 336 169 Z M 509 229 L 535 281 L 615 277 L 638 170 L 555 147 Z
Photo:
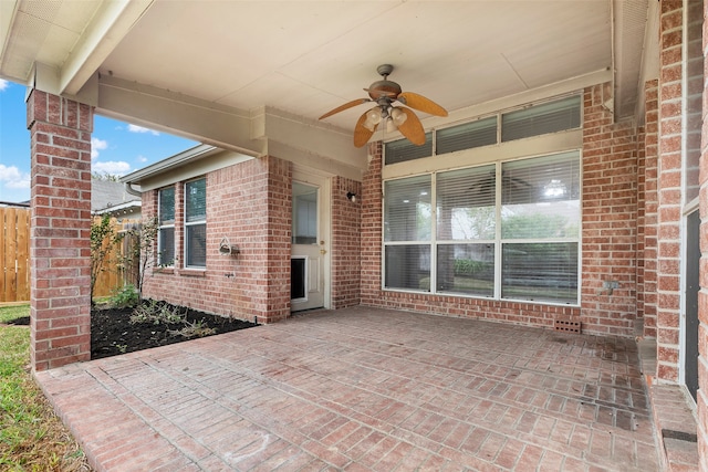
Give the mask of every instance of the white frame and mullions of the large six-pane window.
M 528 238 L 528 239 L 511 239 L 511 238 L 503 238 L 502 237 L 502 199 L 501 199 L 501 179 L 502 179 L 502 165 L 504 162 L 511 162 L 511 161 L 517 161 L 517 160 L 530 160 L 533 158 L 538 158 L 538 157 L 553 157 L 556 155 L 569 155 L 568 158 L 576 158 L 577 159 L 577 172 L 574 176 L 577 179 L 577 185 L 580 186 L 580 188 L 577 189 L 577 202 L 579 202 L 579 209 L 577 209 L 577 234 L 573 235 L 573 237 L 563 237 L 563 238 Z M 464 169 L 468 169 L 468 168 L 476 168 L 476 167 L 483 167 L 483 166 L 489 166 L 490 164 L 494 165 L 494 169 L 496 169 L 496 197 L 494 197 L 494 214 L 496 214 L 496 234 L 494 234 L 494 240 L 493 241 L 489 241 L 487 239 L 485 240 L 444 240 L 444 239 L 438 239 L 438 234 L 437 234 L 437 220 L 438 220 L 438 196 L 437 196 L 437 176 L 439 174 L 444 174 L 444 172 L 448 172 L 448 171 L 452 171 L 452 170 L 464 170 Z M 387 224 L 387 216 L 386 216 L 386 186 L 389 182 L 396 181 L 396 180 L 402 180 L 402 179 L 408 179 L 408 178 L 420 178 L 423 176 L 430 176 L 430 192 L 431 192 L 431 210 L 433 210 L 433 216 L 431 216 L 431 229 L 430 229 L 430 240 L 429 241 L 387 241 L 386 240 L 386 224 Z M 399 177 L 392 177 L 392 178 L 387 178 L 387 179 L 383 179 L 382 181 L 382 187 L 383 187 L 383 195 L 384 195 L 384 201 L 382 203 L 382 255 L 381 255 L 381 264 L 382 264 L 382 276 L 381 276 L 381 287 L 383 291 L 391 291 L 391 292 L 410 292 L 410 293 L 423 293 L 423 294 L 429 294 L 429 295 L 444 295 L 444 296 L 454 296 L 454 297 L 470 297 L 470 298 L 481 298 L 481 300 L 494 300 L 494 301 L 500 301 L 500 302 L 509 302 L 509 303 L 538 303 L 538 304 L 545 304 L 545 305 L 561 305 L 561 306 L 580 306 L 581 303 L 581 286 L 582 286 L 582 149 L 581 148 L 573 148 L 573 149 L 566 149 L 564 151 L 554 151 L 554 153 L 548 153 L 548 154 L 542 154 L 540 156 L 525 156 L 525 157 L 521 157 L 521 158 L 507 158 L 507 159 L 500 159 L 500 160 L 496 160 L 496 161 L 486 161 L 486 162 L 480 162 L 479 165 L 475 165 L 475 166 L 465 166 L 465 167 L 459 167 L 459 168 L 455 168 L 455 169 L 437 169 L 435 171 L 427 171 L 427 172 L 421 172 L 421 174 L 414 174 L 414 175 L 406 175 L 406 176 L 399 176 Z M 574 200 L 574 199 L 573 199 Z M 542 202 L 543 200 L 539 199 L 538 202 Z M 450 244 L 481 244 L 481 243 L 492 243 L 494 245 L 493 248 L 493 252 L 494 252 L 494 262 L 493 262 L 493 295 L 492 296 L 486 296 L 486 295 L 478 295 L 478 294 L 468 294 L 468 293 L 460 293 L 460 292 L 454 292 L 454 291 L 440 291 L 438 290 L 438 268 L 439 268 L 439 263 L 438 263 L 438 254 L 439 254 L 439 247 L 440 245 L 450 245 Z M 502 261 L 502 250 L 504 248 L 504 244 L 514 244 L 514 243 L 546 243 L 546 244 L 551 244 L 551 243 L 559 243 L 559 244 L 566 244 L 566 243 L 571 243 L 571 244 L 575 244 L 576 245 L 576 254 L 577 254 L 577 260 L 576 260 L 576 266 L 577 266 L 577 271 L 576 271 L 576 275 L 575 275 L 575 300 L 574 301 L 562 301 L 560 300 L 560 297 L 558 300 L 546 300 L 546 298 L 539 298 L 539 300 L 529 300 L 528 297 L 503 297 L 502 294 L 502 282 L 503 282 L 503 261 Z M 387 251 L 387 247 L 392 247 L 392 245 L 402 245 L 402 244 L 425 244 L 425 245 L 429 245 L 429 255 L 430 255 L 430 283 L 429 283 L 429 287 L 428 290 L 414 290 L 414 289 L 397 289 L 397 287 L 392 287 L 392 286 L 387 286 L 387 268 L 386 268 L 386 251 Z M 450 263 L 454 263 L 454 259 L 449 260 Z

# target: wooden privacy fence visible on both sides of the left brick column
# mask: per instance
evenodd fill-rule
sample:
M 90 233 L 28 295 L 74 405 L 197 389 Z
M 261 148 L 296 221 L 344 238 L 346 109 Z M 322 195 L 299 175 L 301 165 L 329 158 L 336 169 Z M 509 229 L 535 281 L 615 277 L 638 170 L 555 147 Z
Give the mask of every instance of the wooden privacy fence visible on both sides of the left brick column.
M 97 221 L 96 221 L 97 222 Z M 113 219 L 113 230 L 127 231 L 139 221 Z M 135 284 L 137 264 L 126 270 L 123 255 L 131 253 L 134 241 L 125 238 L 114 248 L 96 279 L 94 296 L 110 296 L 126 283 Z M 30 300 L 30 209 L 0 207 L 0 303 Z

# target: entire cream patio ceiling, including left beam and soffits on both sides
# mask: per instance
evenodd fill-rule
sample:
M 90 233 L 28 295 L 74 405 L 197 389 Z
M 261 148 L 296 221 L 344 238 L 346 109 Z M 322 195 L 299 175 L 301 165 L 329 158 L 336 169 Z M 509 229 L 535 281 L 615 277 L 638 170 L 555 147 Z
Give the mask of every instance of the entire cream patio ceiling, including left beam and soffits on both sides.
M 404 91 L 449 112 L 616 69 L 625 108 L 618 114 L 628 115 L 647 1 L 616 3 L 2 0 L 0 76 L 27 83 L 41 63 L 59 93 L 79 94 L 97 72 L 136 90 L 240 111 L 271 106 L 314 120 L 365 97 L 362 88 L 379 78 L 384 63 L 395 66 L 389 78 Z M 615 50 L 628 66 L 613 63 Z M 366 109 L 327 122 L 351 130 Z

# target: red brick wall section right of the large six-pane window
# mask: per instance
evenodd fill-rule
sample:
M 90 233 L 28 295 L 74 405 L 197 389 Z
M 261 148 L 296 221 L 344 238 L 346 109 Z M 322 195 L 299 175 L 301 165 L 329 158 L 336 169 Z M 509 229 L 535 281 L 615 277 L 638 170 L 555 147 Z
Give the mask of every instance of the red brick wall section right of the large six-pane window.
M 636 318 L 637 136 L 614 123 L 610 84 L 585 90 L 583 106 L 583 332 L 632 336 Z M 617 282 L 613 292 L 605 282 Z

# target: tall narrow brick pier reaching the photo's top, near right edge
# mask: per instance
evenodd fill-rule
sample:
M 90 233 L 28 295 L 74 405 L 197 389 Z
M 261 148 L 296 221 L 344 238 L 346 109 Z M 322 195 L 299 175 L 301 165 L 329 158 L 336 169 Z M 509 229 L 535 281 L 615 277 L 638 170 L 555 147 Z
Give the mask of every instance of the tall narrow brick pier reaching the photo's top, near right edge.
M 670 381 L 678 381 L 680 322 L 681 4 L 663 1 L 659 19 L 657 376 Z

